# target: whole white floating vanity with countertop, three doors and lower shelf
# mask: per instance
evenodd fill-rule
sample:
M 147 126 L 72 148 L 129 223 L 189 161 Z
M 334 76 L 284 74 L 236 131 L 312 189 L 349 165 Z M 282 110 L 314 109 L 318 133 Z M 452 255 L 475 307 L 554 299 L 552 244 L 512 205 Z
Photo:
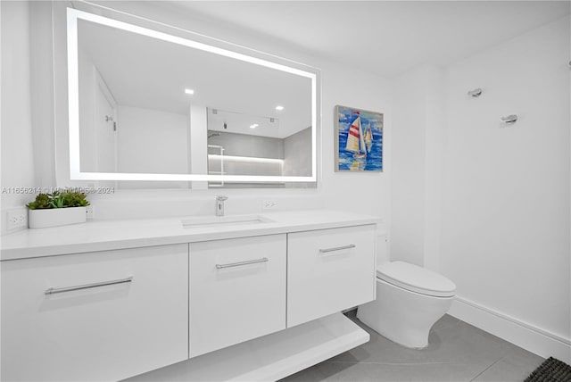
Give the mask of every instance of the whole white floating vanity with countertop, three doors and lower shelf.
M 368 341 L 340 311 L 375 298 L 377 222 L 273 212 L 3 237 L 2 379 L 270 380 L 325 361 Z

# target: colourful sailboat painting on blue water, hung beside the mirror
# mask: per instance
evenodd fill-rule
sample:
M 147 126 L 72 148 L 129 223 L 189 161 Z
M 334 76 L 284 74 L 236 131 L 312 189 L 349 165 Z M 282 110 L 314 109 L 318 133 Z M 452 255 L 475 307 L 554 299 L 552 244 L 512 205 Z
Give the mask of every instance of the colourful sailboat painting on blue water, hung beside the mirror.
M 383 170 L 383 113 L 335 106 L 335 171 Z

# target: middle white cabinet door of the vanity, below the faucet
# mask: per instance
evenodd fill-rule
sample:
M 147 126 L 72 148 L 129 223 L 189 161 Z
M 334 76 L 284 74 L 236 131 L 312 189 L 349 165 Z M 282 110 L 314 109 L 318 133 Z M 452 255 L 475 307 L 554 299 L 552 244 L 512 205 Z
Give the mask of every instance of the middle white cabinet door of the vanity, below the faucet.
M 285 235 L 190 245 L 190 356 L 285 328 Z

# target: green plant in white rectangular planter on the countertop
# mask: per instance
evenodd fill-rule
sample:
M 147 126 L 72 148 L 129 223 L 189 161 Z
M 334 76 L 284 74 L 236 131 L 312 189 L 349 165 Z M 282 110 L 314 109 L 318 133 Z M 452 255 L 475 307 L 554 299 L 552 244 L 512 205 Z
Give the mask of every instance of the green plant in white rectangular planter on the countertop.
M 36 200 L 26 204 L 29 228 L 46 228 L 85 223 L 87 220 L 86 195 L 73 190 L 38 194 Z

